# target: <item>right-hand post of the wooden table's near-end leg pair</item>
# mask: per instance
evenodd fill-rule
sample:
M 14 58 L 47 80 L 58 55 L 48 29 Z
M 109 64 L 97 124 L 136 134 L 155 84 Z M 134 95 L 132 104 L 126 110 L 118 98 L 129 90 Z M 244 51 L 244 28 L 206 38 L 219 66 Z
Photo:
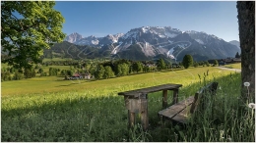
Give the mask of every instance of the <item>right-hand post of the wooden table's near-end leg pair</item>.
M 148 117 L 148 100 L 142 99 L 141 106 L 143 108 L 141 112 L 141 122 L 143 126 L 143 130 L 147 130 L 149 128 L 149 117 Z

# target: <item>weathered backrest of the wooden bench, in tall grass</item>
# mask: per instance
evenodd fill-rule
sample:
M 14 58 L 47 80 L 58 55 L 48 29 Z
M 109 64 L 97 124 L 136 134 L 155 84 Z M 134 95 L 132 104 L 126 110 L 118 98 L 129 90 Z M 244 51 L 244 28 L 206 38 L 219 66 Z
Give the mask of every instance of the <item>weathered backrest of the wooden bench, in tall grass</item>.
M 218 86 L 218 82 L 211 82 L 211 83 L 207 84 L 206 86 L 204 86 L 203 88 L 201 88 L 200 91 L 196 92 L 194 101 L 193 101 L 193 103 L 191 105 L 191 109 L 190 109 L 191 114 L 193 114 L 195 112 L 195 110 L 200 102 L 200 100 L 198 100 L 198 98 L 204 97 L 206 95 L 214 96 L 217 91 L 217 86 Z

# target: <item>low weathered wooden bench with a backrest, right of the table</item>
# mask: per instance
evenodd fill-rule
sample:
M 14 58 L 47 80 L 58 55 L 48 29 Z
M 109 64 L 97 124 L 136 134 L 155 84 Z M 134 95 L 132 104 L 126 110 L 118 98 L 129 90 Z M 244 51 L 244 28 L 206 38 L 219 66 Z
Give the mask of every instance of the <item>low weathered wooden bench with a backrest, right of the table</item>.
M 160 119 L 170 119 L 181 123 L 187 123 L 190 114 L 193 114 L 199 105 L 204 106 L 207 95 L 213 96 L 216 94 L 218 82 L 211 82 L 195 93 L 195 96 L 190 96 L 187 99 L 176 103 L 159 112 Z M 207 107 L 205 107 L 207 108 Z

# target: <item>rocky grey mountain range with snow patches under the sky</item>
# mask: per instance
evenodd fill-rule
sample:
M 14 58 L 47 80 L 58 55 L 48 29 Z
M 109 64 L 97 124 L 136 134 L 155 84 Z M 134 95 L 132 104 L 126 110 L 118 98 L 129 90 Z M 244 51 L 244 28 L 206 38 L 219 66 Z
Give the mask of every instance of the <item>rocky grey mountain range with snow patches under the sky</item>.
M 203 31 L 181 31 L 170 26 L 142 26 L 127 33 L 108 34 L 104 37 L 83 37 L 74 32 L 64 41 L 68 43 L 55 44 L 52 49 L 56 53 L 59 51 L 56 47 L 62 45 L 64 57 L 72 55 L 73 58 L 112 57 L 136 61 L 161 57 L 182 61 L 184 55 L 190 54 L 195 61 L 206 61 L 234 57 L 237 52 L 240 53 L 238 41 L 226 42 Z M 67 51 L 63 52 L 64 49 Z

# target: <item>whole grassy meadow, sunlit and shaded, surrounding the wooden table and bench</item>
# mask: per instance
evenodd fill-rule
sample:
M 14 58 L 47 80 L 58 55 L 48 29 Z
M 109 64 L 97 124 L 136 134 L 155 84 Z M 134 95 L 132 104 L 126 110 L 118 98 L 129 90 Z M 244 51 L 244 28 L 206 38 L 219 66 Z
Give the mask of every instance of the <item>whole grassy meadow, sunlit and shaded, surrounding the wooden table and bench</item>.
M 161 109 L 161 93 L 153 93 L 149 95 L 150 129 L 142 131 L 140 122 L 133 130 L 127 129 L 127 111 L 123 97 L 117 96 L 117 92 L 178 83 L 183 85 L 179 92 L 181 100 L 213 80 L 219 82 L 215 121 L 209 119 L 206 112 L 188 126 L 161 122 L 157 115 Z M 23 142 L 254 141 L 253 112 L 238 110 L 240 85 L 240 73 L 211 67 L 96 81 L 48 76 L 6 81 L 1 84 L 1 139 Z M 170 101 L 171 97 L 168 103 Z

